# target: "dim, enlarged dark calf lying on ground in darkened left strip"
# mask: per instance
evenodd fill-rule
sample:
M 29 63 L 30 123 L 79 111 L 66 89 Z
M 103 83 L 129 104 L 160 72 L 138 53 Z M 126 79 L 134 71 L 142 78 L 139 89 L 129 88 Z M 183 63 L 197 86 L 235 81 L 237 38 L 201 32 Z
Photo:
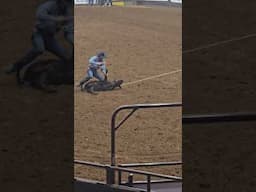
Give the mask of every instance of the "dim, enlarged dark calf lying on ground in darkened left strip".
M 30 85 L 47 92 L 56 91 L 53 85 L 74 84 L 73 62 L 61 60 L 39 60 L 17 73 L 19 84 Z

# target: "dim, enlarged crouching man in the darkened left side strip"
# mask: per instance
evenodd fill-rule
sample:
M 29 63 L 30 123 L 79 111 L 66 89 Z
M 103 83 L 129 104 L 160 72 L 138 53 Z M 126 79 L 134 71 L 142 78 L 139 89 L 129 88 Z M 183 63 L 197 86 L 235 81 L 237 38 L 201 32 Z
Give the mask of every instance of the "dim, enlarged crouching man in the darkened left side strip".
M 66 50 L 59 45 L 55 35 L 67 22 L 73 20 L 73 17 L 68 16 L 67 11 L 70 3 L 70 0 L 49 0 L 38 7 L 32 34 L 32 49 L 23 58 L 9 66 L 5 70 L 7 74 L 19 72 L 24 66 L 43 54 L 45 50 L 52 52 L 64 61 L 69 59 Z

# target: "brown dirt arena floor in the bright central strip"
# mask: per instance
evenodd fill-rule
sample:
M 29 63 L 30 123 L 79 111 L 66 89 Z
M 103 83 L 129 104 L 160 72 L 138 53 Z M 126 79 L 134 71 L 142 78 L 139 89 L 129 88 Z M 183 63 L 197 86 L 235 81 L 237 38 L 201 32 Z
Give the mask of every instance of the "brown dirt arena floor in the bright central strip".
M 180 8 L 75 8 L 75 82 L 85 75 L 88 58 L 104 50 L 109 79 L 128 83 L 98 95 L 75 88 L 75 159 L 110 163 L 110 119 L 118 106 L 181 102 L 181 13 Z M 168 72 L 173 73 L 134 82 Z M 138 111 L 118 130 L 117 163 L 181 160 L 181 143 L 181 108 Z M 180 167 L 155 171 L 181 175 Z M 78 177 L 103 175 L 75 169 Z

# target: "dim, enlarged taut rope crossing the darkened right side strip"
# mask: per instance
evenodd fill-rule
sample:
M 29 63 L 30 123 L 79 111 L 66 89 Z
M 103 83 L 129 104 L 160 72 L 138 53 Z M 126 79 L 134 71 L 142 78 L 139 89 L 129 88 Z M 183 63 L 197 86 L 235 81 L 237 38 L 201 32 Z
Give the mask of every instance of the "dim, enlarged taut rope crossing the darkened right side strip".
M 237 37 L 237 38 L 229 39 L 229 40 L 218 41 L 218 42 L 211 43 L 211 44 L 208 44 L 208 45 L 205 45 L 205 46 L 201 46 L 201 47 L 197 47 L 197 48 L 194 48 L 194 49 L 185 50 L 185 51 L 182 52 L 182 54 L 192 53 L 192 52 L 196 52 L 196 51 L 201 51 L 203 49 L 208 49 L 208 48 L 211 48 L 211 47 L 216 47 L 216 46 L 219 46 L 219 45 L 231 43 L 231 42 L 234 42 L 234 41 L 240 41 L 240 40 L 248 39 L 248 38 L 251 38 L 251 37 L 256 37 L 256 33 L 245 35 L 245 36 L 242 36 L 242 37 Z

